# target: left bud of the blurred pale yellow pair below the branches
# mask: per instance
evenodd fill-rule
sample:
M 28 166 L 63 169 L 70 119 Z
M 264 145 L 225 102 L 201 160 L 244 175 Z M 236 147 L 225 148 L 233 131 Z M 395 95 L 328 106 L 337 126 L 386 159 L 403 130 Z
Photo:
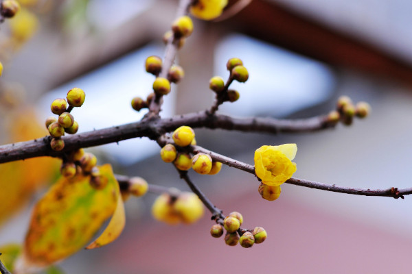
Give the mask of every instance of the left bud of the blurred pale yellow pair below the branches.
M 167 193 L 163 193 L 155 199 L 152 206 L 152 215 L 157 221 L 168 223 L 169 225 L 176 225 L 180 223 L 181 218 L 172 207 L 172 197 Z

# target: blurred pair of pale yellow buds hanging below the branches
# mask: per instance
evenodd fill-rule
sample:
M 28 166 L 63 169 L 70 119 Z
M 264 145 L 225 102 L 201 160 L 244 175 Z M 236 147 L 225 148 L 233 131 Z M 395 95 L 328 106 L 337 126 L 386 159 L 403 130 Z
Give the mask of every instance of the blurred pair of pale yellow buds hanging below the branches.
M 204 213 L 203 203 L 192 192 L 179 192 L 172 189 L 171 193 L 163 193 L 152 206 L 152 215 L 157 221 L 176 225 L 191 224 L 201 219 Z

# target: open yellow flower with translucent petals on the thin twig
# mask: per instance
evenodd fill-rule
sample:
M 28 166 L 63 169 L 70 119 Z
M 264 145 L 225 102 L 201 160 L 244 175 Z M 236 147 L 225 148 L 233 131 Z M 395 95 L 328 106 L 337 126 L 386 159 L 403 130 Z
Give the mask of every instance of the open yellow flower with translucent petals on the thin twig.
M 255 173 L 268 186 L 280 186 L 292 177 L 296 164 L 292 162 L 296 144 L 262 146 L 255 151 Z

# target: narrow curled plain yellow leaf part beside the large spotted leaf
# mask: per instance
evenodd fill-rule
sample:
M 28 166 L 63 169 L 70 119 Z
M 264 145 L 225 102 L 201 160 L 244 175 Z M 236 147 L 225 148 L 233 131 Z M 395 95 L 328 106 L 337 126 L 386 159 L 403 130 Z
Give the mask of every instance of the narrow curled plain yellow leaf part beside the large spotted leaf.
M 95 249 L 97 247 L 103 247 L 116 240 L 120 236 L 126 225 L 126 215 L 124 214 L 124 204 L 122 196 L 117 197 L 117 206 L 115 214 L 113 214 L 110 223 L 108 223 L 106 229 L 102 235 L 99 236 L 94 242 L 86 247 L 86 249 Z

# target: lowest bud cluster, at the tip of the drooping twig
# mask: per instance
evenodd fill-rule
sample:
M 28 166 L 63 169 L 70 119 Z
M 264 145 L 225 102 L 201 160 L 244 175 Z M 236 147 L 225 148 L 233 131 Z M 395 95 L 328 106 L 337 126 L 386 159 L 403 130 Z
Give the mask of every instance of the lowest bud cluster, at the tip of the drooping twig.
M 248 248 L 255 243 L 260 244 L 267 238 L 266 230 L 262 227 L 255 227 L 253 230 L 240 229 L 243 223 L 243 216 L 239 212 L 231 212 L 223 220 L 223 225 L 216 224 L 210 229 L 210 234 L 214 238 L 220 238 L 226 230 L 225 243 L 226 245 L 235 246 L 240 243 L 240 246 Z

